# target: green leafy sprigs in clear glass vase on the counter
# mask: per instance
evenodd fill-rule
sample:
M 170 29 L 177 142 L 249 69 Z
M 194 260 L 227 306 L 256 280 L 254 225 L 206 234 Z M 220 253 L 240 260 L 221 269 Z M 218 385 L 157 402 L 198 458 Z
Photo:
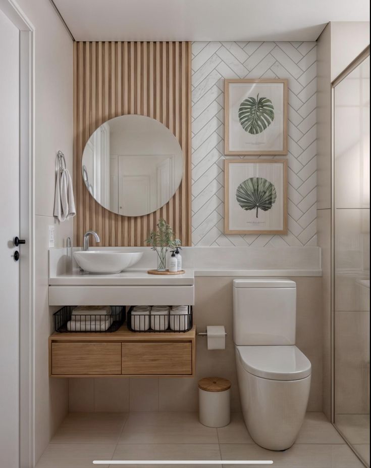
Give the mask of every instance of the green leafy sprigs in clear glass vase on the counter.
M 157 254 L 157 270 L 166 271 L 166 258 L 169 249 L 176 249 L 181 245 L 175 238 L 173 228 L 167 224 L 164 218 L 158 220 L 157 231 L 151 231 L 145 242 L 151 246 Z

